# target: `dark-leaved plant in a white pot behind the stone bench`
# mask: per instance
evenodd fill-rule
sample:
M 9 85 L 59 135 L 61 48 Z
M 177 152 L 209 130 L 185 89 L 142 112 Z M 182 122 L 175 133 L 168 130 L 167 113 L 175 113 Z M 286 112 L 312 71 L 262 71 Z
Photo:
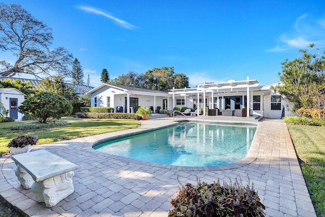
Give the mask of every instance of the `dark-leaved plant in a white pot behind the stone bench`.
M 31 150 L 32 145 L 37 143 L 38 139 L 38 136 L 32 135 L 17 136 L 13 138 L 8 144 L 10 153 L 13 155 L 27 153 Z

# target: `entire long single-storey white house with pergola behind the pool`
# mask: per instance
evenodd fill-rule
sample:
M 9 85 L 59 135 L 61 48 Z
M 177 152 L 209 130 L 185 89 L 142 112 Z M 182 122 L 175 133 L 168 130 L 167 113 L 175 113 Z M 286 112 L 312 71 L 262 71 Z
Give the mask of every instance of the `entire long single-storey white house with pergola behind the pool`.
M 86 94 L 91 96 L 91 106 L 114 107 L 114 112 L 131 113 L 144 105 L 151 107 L 154 113 L 159 108 L 172 110 L 175 106 L 186 106 L 202 108 L 205 115 L 265 118 L 281 118 L 283 112 L 285 116 L 291 115 L 291 103 L 274 93 L 272 85 L 276 84 L 261 86 L 247 77 L 243 81 L 204 82 L 195 88 L 165 92 L 103 83 Z M 121 110 L 117 109 L 121 107 Z M 132 107 L 132 110 L 125 110 L 126 107 Z

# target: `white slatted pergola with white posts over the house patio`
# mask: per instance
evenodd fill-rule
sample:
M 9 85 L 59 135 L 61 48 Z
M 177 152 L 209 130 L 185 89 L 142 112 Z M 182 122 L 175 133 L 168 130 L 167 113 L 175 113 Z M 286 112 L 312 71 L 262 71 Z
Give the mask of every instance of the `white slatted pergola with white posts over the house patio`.
M 232 93 L 232 92 L 246 92 L 247 94 L 247 117 L 250 115 L 250 108 L 252 108 L 252 94 L 253 90 L 261 89 L 259 83 L 254 79 L 244 81 L 229 80 L 228 82 L 216 82 L 216 83 L 203 83 L 198 85 L 196 88 L 182 88 L 182 89 L 172 89 L 169 94 L 173 95 L 173 107 L 175 107 L 175 96 L 184 97 L 186 102 L 186 97 L 191 97 L 191 95 L 197 95 L 197 101 L 200 100 L 200 95 L 203 96 L 203 105 L 206 104 L 206 95 L 211 95 L 212 99 L 214 94 L 221 93 Z M 203 106 L 203 114 L 205 114 L 206 108 Z M 199 115 L 199 110 L 198 110 Z

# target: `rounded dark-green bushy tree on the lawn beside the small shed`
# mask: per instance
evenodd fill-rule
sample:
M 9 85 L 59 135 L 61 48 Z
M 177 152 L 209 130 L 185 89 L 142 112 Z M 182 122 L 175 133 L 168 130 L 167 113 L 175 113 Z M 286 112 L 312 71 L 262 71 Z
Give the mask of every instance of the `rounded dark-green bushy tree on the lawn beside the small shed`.
M 44 124 L 54 119 L 60 119 L 64 115 L 70 115 L 72 105 L 62 96 L 41 92 L 23 101 L 18 107 L 18 111 L 32 116 Z

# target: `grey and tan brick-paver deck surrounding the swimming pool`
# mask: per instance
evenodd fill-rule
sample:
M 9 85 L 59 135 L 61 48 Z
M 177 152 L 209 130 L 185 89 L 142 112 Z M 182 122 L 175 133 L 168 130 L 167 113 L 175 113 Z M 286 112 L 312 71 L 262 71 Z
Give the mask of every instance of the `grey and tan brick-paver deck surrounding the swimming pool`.
M 176 118 L 175 118 L 176 119 Z M 178 118 L 180 119 L 180 118 Z M 79 166 L 75 170 L 75 191 L 52 208 L 35 201 L 31 190 L 23 189 L 14 173 L 11 156 L 0 158 L 0 196 L 28 216 L 167 216 L 170 197 L 182 184 L 201 181 L 221 183 L 240 179 L 254 184 L 266 216 L 316 216 L 306 188 L 293 143 L 282 120 L 190 117 L 193 121 L 241 122 L 257 125 L 248 156 L 237 164 L 220 167 L 181 167 L 131 160 L 91 148 L 108 137 L 175 124 L 173 118 L 141 121 L 142 126 L 114 133 L 42 144 L 45 149 Z

